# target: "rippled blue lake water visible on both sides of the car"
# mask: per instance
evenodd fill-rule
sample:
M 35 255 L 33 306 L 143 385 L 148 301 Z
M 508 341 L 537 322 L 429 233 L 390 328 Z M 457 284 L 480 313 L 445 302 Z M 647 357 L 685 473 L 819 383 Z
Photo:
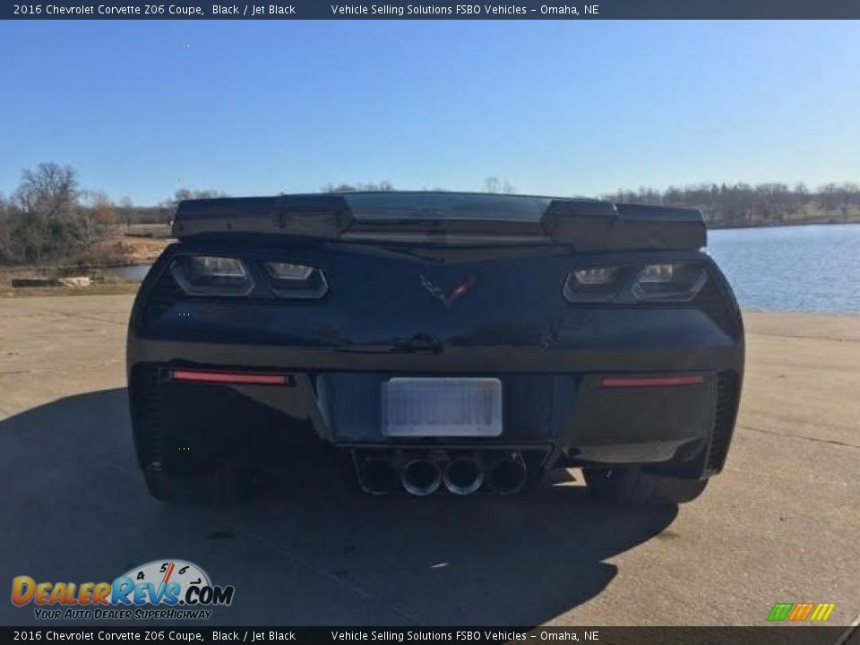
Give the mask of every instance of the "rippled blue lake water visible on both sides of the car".
M 860 224 L 708 231 L 742 308 L 860 314 Z M 110 275 L 143 280 L 149 265 Z

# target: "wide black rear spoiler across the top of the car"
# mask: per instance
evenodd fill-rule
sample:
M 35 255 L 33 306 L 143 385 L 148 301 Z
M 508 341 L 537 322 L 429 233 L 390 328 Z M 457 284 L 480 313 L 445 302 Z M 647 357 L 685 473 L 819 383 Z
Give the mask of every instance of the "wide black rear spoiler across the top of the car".
M 335 193 L 179 202 L 173 235 L 266 234 L 435 245 L 700 249 L 700 211 L 488 193 Z

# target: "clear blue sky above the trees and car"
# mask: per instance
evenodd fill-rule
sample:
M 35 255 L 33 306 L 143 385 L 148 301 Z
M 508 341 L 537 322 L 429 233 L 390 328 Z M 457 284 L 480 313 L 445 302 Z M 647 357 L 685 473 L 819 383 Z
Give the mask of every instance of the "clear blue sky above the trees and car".
M 860 23 L 0 22 L 0 193 L 43 161 L 140 204 L 857 181 Z

